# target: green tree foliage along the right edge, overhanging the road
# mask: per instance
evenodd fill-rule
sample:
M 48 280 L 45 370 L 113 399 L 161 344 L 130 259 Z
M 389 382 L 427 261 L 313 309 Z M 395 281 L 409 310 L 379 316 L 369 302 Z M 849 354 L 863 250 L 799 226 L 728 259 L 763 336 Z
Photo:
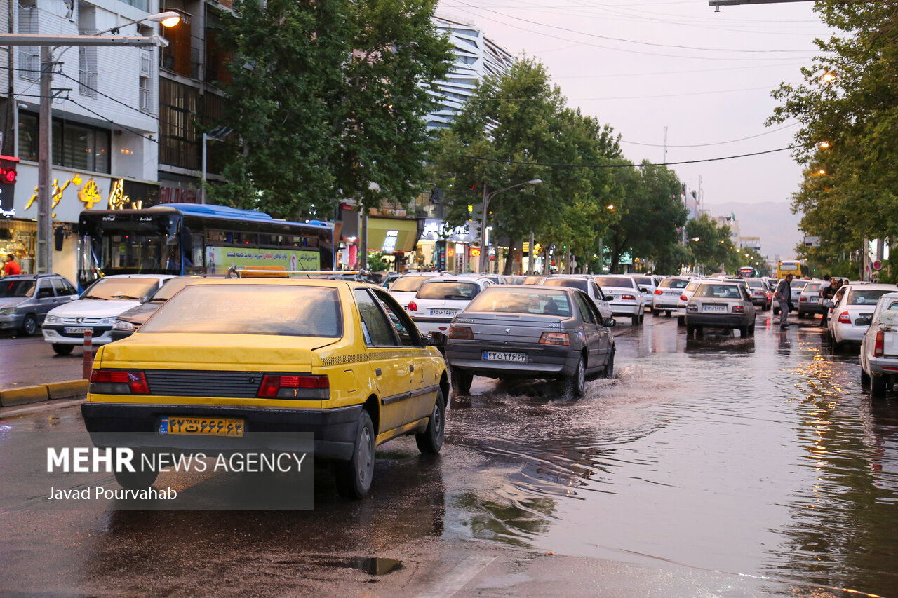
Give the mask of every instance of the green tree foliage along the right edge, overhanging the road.
M 815 10 L 836 32 L 817 40 L 826 54 L 802 69 L 804 84 L 773 92 L 781 104 L 770 123 L 802 125 L 797 158 L 806 171 L 793 209 L 822 243 L 799 256 L 835 268 L 865 236 L 898 229 L 898 2 L 820 2 Z M 826 73 L 835 78 L 825 81 Z

